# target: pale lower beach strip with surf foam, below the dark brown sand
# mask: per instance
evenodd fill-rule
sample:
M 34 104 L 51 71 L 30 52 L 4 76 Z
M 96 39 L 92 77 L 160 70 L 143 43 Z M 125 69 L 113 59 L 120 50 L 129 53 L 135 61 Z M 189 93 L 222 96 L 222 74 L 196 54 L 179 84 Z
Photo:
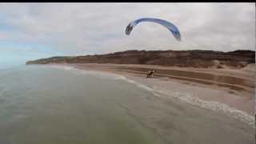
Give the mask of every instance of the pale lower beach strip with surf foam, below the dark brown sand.
M 136 85 L 146 86 L 156 94 L 178 98 L 183 102 L 202 108 L 217 110 L 238 118 L 242 122 L 254 125 L 254 98 L 245 91 L 230 90 L 220 86 L 204 85 L 197 82 L 186 82 L 174 78 L 145 78 L 144 73 L 118 70 L 109 64 L 50 64 L 54 66 L 71 66 L 79 70 L 97 70 L 118 74 L 124 80 Z M 120 66 L 120 65 L 119 65 Z M 122 65 L 123 66 L 123 65 Z M 232 92 L 233 91 L 233 92 Z

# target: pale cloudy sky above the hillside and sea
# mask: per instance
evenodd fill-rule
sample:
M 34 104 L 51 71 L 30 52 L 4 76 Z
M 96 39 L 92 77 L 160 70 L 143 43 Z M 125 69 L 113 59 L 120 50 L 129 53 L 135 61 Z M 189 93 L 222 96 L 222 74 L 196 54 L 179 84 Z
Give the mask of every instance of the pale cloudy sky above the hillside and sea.
M 178 26 L 182 42 L 165 27 Z M 254 3 L 1 3 L 0 62 L 121 50 L 254 50 Z

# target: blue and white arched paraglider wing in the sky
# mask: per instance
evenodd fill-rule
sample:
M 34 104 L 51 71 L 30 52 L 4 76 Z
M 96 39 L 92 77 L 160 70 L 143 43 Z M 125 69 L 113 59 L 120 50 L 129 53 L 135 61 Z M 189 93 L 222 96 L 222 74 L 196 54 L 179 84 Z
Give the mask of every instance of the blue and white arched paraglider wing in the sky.
M 158 18 L 140 18 L 133 22 L 130 22 L 128 26 L 126 26 L 126 34 L 129 35 L 130 32 L 134 29 L 136 25 L 138 25 L 139 22 L 155 22 L 162 26 L 165 26 L 170 32 L 174 35 L 174 38 L 176 38 L 178 41 L 182 40 L 181 34 L 179 33 L 178 27 L 174 26 L 174 24 L 167 22 L 162 19 Z

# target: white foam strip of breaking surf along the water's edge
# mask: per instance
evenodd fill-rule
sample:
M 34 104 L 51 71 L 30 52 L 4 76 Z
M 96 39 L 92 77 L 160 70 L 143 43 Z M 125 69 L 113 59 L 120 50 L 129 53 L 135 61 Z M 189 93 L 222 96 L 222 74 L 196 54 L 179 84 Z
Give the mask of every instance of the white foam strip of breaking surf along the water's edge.
M 172 92 L 170 90 L 162 90 L 159 88 L 158 89 L 150 88 L 148 86 L 145 86 L 141 83 L 135 82 L 134 80 L 131 80 L 124 76 L 118 76 L 114 79 L 120 79 L 120 80 L 124 80 L 126 82 L 133 83 L 135 86 L 138 86 L 142 89 L 151 91 L 154 95 L 156 95 L 158 97 L 160 97 L 160 94 L 164 94 L 171 98 L 178 98 L 182 102 L 187 102 L 194 106 L 200 106 L 202 108 L 206 108 L 209 110 L 215 110 L 218 112 L 225 113 L 232 118 L 237 118 L 240 121 L 249 124 L 250 126 L 254 126 L 254 117 L 253 116 L 251 116 L 250 114 L 247 114 L 246 112 L 244 112 L 242 110 L 237 110 L 233 107 L 230 107 L 230 106 L 226 105 L 225 103 L 205 101 L 205 100 L 198 98 L 198 96 L 196 96 L 194 94 L 189 94 L 189 93 L 185 93 L 185 92 L 179 92 L 179 91 Z

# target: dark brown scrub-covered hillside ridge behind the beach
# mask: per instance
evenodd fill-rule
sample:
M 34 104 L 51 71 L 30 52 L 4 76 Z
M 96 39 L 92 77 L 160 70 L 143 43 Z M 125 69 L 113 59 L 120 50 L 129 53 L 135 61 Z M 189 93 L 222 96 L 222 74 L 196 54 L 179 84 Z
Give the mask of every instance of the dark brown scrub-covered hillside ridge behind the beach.
M 114 63 L 197 68 L 242 68 L 247 64 L 255 63 L 255 51 L 235 50 L 230 52 L 220 52 L 212 50 L 126 50 L 101 55 L 42 58 L 26 62 L 26 65 L 49 63 Z

